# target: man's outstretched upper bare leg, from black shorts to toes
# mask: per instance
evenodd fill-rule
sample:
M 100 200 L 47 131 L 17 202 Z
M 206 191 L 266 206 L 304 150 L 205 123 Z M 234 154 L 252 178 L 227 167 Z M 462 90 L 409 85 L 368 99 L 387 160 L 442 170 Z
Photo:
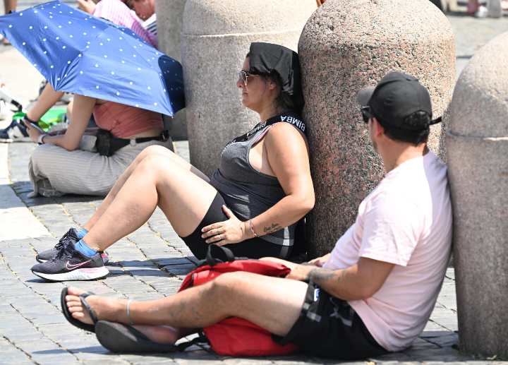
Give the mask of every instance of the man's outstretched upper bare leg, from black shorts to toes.
M 230 316 L 245 318 L 275 335 L 286 335 L 300 316 L 307 284 L 252 273 L 226 273 L 199 287 L 153 301 L 132 301 L 127 317 L 126 300 L 87 297 L 99 319 L 138 325 L 203 328 Z M 69 288 L 66 302 L 72 316 L 92 323 L 77 297 L 83 291 Z M 212 305 L 211 305 L 212 304 Z M 143 330 L 143 327 L 139 327 Z

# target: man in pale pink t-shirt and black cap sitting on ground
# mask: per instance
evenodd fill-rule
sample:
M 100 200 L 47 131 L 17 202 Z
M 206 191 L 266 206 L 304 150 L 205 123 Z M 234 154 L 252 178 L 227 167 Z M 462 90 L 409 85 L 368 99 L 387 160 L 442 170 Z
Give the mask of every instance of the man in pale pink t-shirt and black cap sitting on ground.
M 79 297 L 84 292 L 71 287 L 73 318 L 92 323 L 84 301 L 96 318 L 114 322 L 101 325 L 123 343 L 129 323 L 160 344 L 236 316 L 319 357 L 360 359 L 409 347 L 433 311 L 449 261 L 447 168 L 426 145 L 432 109 L 418 80 L 392 72 L 358 96 L 387 174 L 332 253 L 307 265 L 265 258 L 291 273 L 224 273 L 152 301 Z M 132 341 L 130 352 L 136 349 Z

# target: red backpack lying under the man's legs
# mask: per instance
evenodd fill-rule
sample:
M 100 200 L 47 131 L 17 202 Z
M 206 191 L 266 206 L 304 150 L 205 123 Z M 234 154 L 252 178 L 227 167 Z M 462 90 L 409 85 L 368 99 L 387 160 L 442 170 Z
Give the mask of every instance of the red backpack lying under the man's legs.
M 219 248 L 226 261 L 212 256 L 212 250 Z M 207 258 L 198 268 L 185 277 L 180 290 L 202 285 L 223 273 L 247 271 L 260 275 L 285 277 L 291 270 L 286 266 L 270 261 L 235 258 L 231 250 L 222 246 L 210 245 Z M 267 356 L 291 354 L 297 350 L 293 344 L 279 345 L 272 340 L 272 334 L 243 318 L 230 317 L 214 325 L 203 328 L 205 338 L 198 337 L 193 343 L 210 343 L 210 347 L 219 355 L 229 356 Z

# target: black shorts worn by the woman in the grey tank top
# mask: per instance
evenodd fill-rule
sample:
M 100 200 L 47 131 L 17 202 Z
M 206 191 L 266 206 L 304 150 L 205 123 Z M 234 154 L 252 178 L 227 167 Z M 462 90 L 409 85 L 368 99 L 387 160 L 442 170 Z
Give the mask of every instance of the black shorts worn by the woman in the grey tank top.
M 205 217 L 198 225 L 198 228 L 194 230 L 187 237 L 180 237 L 186 243 L 189 249 L 195 257 L 202 260 L 205 258 L 209 244 L 205 242 L 205 239 L 201 238 L 201 229 L 212 223 L 223 222 L 228 220 L 228 217 L 222 210 L 222 205 L 226 205 L 224 198 L 217 193 L 210 208 L 208 208 Z M 245 241 L 238 242 L 238 244 L 229 244 L 227 248 L 233 251 L 236 257 L 248 257 L 248 258 L 262 258 L 266 256 L 278 257 L 278 258 L 289 258 L 291 254 L 292 246 L 282 246 L 279 244 L 272 244 L 271 242 L 265 241 L 259 237 L 253 239 L 246 239 Z

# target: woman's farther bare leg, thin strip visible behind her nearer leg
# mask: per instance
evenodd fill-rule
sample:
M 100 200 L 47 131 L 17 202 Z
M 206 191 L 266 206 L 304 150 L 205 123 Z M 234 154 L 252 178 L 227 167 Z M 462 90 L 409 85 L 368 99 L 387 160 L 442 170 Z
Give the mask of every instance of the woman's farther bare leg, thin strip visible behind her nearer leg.
M 200 172 L 199 169 L 196 169 L 193 167 L 193 165 L 189 164 L 186 160 L 183 160 L 179 155 L 176 155 L 176 153 L 172 152 L 171 150 L 160 146 L 160 145 L 152 145 L 150 147 L 145 148 L 140 154 L 135 157 L 135 160 L 127 167 L 126 171 L 123 172 L 123 174 L 120 175 L 119 179 L 116 181 L 114 186 L 111 188 L 109 193 L 107 194 L 106 198 L 104 198 L 104 201 L 102 201 L 101 205 L 99 205 L 99 208 L 95 211 L 94 215 L 88 220 L 88 222 L 83 226 L 83 228 L 90 231 L 92 227 L 95 225 L 95 223 L 99 220 L 99 218 L 104 214 L 104 212 L 107 210 L 109 205 L 114 201 L 116 198 L 116 195 L 119 193 L 120 189 L 122 188 L 123 184 L 126 183 L 127 179 L 136 167 L 142 162 L 145 157 L 147 156 L 162 156 L 165 157 L 167 160 L 164 163 L 169 164 L 177 164 L 179 167 L 185 169 L 188 172 L 192 172 L 196 176 L 200 177 L 200 179 L 208 182 L 210 179 Z

